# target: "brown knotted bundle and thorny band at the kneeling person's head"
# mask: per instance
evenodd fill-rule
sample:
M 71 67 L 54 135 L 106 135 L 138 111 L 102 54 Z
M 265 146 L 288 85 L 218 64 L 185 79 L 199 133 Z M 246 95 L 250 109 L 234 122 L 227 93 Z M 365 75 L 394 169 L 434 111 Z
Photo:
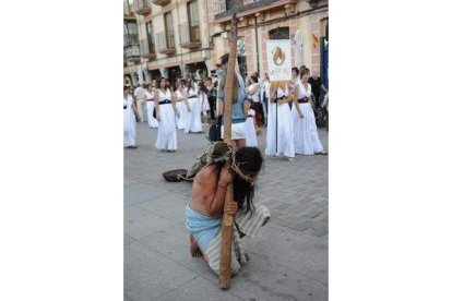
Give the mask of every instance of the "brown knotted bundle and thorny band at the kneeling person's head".
M 240 166 L 246 162 L 237 161 L 236 159 L 236 148 L 228 145 L 225 142 L 215 142 L 209 150 L 209 161 L 210 162 L 228 162 L 230 168 L 243 180 L 250 184 L 254 184 L 254 179 L 250 176 L 243 174 L 240 170 Z

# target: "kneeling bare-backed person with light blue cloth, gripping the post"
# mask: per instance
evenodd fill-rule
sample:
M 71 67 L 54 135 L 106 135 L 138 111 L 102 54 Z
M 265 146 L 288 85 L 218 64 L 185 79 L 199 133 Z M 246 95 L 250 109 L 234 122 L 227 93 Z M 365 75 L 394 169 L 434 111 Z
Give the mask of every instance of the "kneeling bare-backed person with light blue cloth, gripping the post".
M 207 165 L 193 180 L 191 201 L 186 206 L 186 228 L 190 232 L 192 256 L 203 256 L 216 274 L 219 273 L 222 216 L 234 214 L 233 256 L 230 273 L 235 275 L 249 261 L 241 238 L 254 237 L 270 219 L 270 210 L 254 205 L 254 183 L 263 158 L 257 147 L 231 148 L 216 142 L 207 154 Z M 234 200 L 225 205 L 226 188 L 234 183 Z

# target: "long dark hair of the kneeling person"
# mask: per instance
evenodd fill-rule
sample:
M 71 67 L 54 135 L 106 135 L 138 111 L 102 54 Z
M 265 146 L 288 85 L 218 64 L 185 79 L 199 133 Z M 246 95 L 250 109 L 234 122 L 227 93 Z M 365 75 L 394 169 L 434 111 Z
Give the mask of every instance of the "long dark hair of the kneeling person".
M 236 161 L 239 162 L 239 169 L 243 173 L 252 173 L 255 178 L 262 168 L 263 158 L 258 147 L 240 147 L 236 152 Z M 240 178 L 234 169 L 230 170 L 234 176 L 234 200 L 237 202 L 238 210 L 245 207 L 245 213 L 254 212 L 254 185 Z

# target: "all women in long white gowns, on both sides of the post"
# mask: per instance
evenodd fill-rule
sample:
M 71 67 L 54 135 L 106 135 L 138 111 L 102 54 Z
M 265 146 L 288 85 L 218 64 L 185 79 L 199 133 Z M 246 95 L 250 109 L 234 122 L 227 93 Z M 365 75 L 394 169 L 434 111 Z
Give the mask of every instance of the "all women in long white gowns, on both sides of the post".
M 289 161 L 300 155 L 325 155 L 317 131 L 311 99 L 311 85 L 308 83 L 309 69 L 293 68 L 290 85 L 278 86 L 274 97 L 269 97 L 265 155 L 282 157 Z M 259 93 L 261 84 L 247 87 L 251 96 Z M 265 100 L 264 100 L 265 101 Z M 292 104 L 292 108 L 289 104 Z M 201 116 L 207 117 L 209 100 L 203 83 L 195 85 L 192 80 L 180 79 L 174 92 L 169 81 L 162 77 L 146 91 L 147 122 L 157 128 L 155 147 L 162 152 L 176 152 L 177 130 L 183 133 L 202 133 Z M 245 106 L 243 106 L 245 107 Z M 245 109 L 243 109 L 245 110 Z M 136 107 L 124 88 L 124 147 L 135 148 L 134 118 Z M 249 106 L 246 116 L 246 145 L 258 146 L 255 111 Z M 136 113 L 138 115 L 138 113 Z

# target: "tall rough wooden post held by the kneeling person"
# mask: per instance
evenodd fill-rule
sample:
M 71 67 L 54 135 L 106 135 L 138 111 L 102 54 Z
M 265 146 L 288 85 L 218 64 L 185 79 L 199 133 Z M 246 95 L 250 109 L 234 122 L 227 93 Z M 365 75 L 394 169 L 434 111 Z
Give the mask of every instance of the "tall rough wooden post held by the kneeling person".
M 231 145 L 231 111 L 235 76 L 236 76 L 236 58 L 237 58 L 237 15 L 233 14 L 233 21 L 229 32 L 229 62 L 227 65 L 227 75 L 225 83 L 225 107 L 223 112 L 224 120 L 224 141 Z M 226 188 L 225 205 L 233 202 L 234 186 L 233 183 Z M 234 216 L 229 214 L 223 215 L 222 222 L 222 253 L 219 255 L 219 277 L 218 284 L 222 289 L 228 289 L 230 284 L 230 256 L 231 256 L 231 239 L 233 239 Z

